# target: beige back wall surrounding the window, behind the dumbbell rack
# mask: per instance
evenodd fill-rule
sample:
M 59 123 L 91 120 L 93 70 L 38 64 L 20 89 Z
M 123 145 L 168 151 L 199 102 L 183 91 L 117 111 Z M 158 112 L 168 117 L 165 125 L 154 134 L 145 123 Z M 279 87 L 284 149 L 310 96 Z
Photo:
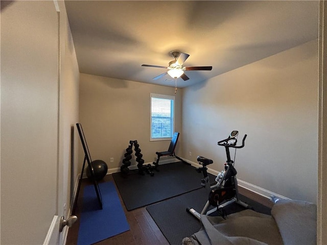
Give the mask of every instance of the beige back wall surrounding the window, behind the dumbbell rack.
M 137 140 L 145 162 L 166 151 L 170 141 L 150 141 L 150 93 L 175 95 L 175 131 L 181 133 L 181 90 L 173 87 L 80 74 L 80 123 L 92 160 L 120 168 L 130 140 Z M 84 153 L 80 147 L 79 159 Z M 177 144 L 176 154 L 181 152 Z M 114 162 L 110 163 L 110 158 Z M 132 164 L 135 164 L 133 156 Z M 80 169 L 82 160 L 80 160 Z

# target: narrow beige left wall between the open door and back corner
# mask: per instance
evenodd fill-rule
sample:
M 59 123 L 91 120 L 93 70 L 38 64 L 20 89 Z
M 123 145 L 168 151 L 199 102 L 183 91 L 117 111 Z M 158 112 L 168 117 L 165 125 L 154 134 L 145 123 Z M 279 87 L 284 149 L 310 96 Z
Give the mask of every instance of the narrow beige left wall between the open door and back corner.
M 59 126 L 59 164 L 62 163 L 63 202 L 68 215 L 72 194 L 78 175 L 79 137 L 76 129 L 79 115 L 79 67 L 74 42 L 63 2 L 60 4 L 61 24 L 61 74 L 60 74 L 60 126 Z M 69 203 L 71 205 L 69 205 Z

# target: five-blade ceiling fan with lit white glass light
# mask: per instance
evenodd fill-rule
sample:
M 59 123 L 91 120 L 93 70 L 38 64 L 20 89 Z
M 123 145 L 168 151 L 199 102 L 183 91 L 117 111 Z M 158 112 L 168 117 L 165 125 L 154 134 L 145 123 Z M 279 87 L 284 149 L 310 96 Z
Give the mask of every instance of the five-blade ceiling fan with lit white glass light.
M 212 70 L 212 68 L 213 68 L 212 66 L 185 66 L 185 67 L 183 67 L 182 66 L 183 63 L 185 62 L 186 59 L 189 58 L 190 55 L 185 54 L 185 53 L 179 53 L 179 52 L 172 52 L 171 54 L 175 60 L 172 60 L 171 62 L 169 62 L 167 67 L 160 66 L 160 65 L 145 65 L 145 64 L 142 65 L 142 66 L 148 66 L 148 67 L 169 69 L 165 73 L 160 74 L 159 76 L 156 76 L 152 80 L 157 80 L 168 74 L 175 80 L 177 78 L 181 78 L 184 81 L 186 81 L 186 80 L 189 80 L 190 78 L 185 75 L 185 73 L 184 73 L 185 70 Z

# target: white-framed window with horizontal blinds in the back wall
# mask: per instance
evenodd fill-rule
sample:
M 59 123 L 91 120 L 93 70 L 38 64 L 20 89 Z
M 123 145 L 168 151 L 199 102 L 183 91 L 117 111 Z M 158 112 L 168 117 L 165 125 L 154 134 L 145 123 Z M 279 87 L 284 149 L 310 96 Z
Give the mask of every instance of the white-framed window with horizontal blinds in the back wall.
M 175 96 L 151 93 L 150 140 L 171 139 L 174 134 Z

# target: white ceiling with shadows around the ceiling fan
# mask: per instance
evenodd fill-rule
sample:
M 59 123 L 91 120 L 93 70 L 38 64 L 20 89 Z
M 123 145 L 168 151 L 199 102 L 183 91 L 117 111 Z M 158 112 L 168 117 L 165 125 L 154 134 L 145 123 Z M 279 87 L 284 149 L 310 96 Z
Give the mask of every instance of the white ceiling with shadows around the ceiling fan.
M 317 1 L 65 1 L 80 72 L 175 86 L 170 52 L 190 54 L 185 87 L 318 37 Z M 168 79 L 168 81 L 167 81 Z

